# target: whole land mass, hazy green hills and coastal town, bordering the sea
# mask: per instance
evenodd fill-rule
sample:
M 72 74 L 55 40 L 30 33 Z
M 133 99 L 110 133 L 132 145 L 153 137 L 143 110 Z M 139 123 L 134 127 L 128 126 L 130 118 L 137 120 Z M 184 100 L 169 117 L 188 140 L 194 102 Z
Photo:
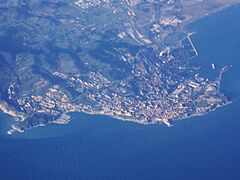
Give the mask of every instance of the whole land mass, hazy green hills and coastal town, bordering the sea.
M 5 65 L 0 78 L 0 109 L 16 120 L 9 134 L 67 124 L 73 112 L 170 127 L 229 103 L 220 84 L 231 66 L 212 64 L 218 75 L 202 76 L 190 63 L 198 52 L 186 30 L 227 7 L 224 1 L 59 0 L 41 9 L 34 3 L 12 4 L 32 16 L 9 17 L 1 26 L 2 34 L 21 27 L 12 37 L 21 52 L 0 52 L 5 64 L 15 64 Z

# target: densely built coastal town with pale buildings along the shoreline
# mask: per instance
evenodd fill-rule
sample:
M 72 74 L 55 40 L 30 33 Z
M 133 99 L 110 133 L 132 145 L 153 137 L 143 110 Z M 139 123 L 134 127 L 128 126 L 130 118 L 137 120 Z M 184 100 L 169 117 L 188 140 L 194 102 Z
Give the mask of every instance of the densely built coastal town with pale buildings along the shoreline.
M 226 105 L 228 99 L 221 94 L 220 84 L 231 66 L 223 67 L 214 81 L 198 73 L 182 76 L 182 72 L 195 70 L 189 69 L 188 61 L 197 56 L 190 37 L 183 41 L 186 40 L 188 45 L 180 42 L 177 48 L 158 54 L 155 61 L 149 61 L 146 52 L 141 51 L 129 63 L 132 67 L 129 81 L 112 80 L 96 72 L 51 72 L 65 86 L 53 85 L 43 95 L 17 99 L 22 112 L 5 112 L 12 116 L 24 113 L 25 118 L 13 124 L 8 133 L 24 132 L 49 123 L 67 124 L 71 120 L 68 114 L 72 112 L 171 127 L 173 121 L 203 115 Z

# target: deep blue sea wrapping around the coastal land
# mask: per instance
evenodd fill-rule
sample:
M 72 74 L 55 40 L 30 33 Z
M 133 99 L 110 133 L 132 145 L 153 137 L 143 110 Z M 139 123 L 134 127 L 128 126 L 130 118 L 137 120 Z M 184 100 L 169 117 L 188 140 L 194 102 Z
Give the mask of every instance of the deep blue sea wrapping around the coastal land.
M 232 104 L 172 128 L 74 114 L 66 126 L 15 136 L 3 132 L 10 119 L 1 114 L 0 180 L 240 179 L 239 22 L 238 6 L 189 27 L 203 75 L 233 65 L 222 84 Z

